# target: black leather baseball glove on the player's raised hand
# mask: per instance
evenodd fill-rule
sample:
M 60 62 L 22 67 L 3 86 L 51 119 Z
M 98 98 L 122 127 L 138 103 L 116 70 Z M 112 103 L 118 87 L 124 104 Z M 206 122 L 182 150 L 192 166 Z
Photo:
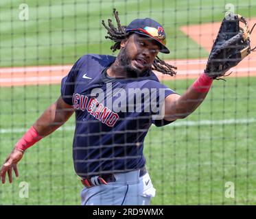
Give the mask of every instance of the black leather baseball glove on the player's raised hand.
M 244 24 L 244 27 L 240 24 Z M 205 68 L 206 75 L 213 79 L 226 76 L 226 71 L 249 55 L 252 51 L 250 34 L 246 18 L 239 14 L 226 16 L 211 49 Z

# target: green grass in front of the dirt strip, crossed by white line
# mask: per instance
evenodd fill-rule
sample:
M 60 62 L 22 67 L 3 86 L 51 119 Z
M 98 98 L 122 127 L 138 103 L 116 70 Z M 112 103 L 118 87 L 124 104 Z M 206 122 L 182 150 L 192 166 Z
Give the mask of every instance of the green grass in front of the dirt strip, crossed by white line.
M 191 81 L 168 81 L 184 92 Z M 216 81 L 198 110 L 182 122 L 255 118 L 256 79 Z M 3 161 L 23 133 L 59 95 L 59 86 L 0 89 Z M 25 99 L 25 101 L 24 101 Z M 20 177 L 0 185 L 1 204 L 78 205 L 82 184 L 72 163 L 73 117 L 64 129 L 38 142 L 19 165 Z M 176 121 L 175 123 L 180 123 Z M 256 204 L 255 121 L 222 125 L 151 127 L 145 142 L 148 169 L 156 188 L 154 205 Z M 19 183 L 30 183 L 29 198 L 19 198 Z M 225 198 L 225 183 L 235 183 L 235 198 Z

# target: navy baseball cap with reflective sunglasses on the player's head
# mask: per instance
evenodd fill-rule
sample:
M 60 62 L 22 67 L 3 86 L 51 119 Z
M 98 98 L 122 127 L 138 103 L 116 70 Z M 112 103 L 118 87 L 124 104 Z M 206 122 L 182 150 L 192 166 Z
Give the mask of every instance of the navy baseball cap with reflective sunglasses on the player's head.
M 126 27 L 126 34 L 136 33 L 143 36 L 153 38 L 160 45 L 161 53 L 170 53 L 170 50 L 165 47 L 166 36 L 161 24 L 151 18 L 135 19 Z

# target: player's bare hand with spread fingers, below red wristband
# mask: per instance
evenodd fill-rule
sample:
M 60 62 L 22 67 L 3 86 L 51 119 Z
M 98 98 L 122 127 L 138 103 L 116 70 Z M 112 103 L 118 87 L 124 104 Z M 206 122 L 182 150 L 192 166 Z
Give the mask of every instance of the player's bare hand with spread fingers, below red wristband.
M 17 163 L 23 157 L 23 153 L 23 151 L 14 149 L 12 153 L 10 153 L 10 155 L 7 157 L 0 172 L 0 179 L 2 183 L 5 183 L 6 172 L 8 172 L 9 182 L 12 183 L 12 169 L 14 170 L 16 177 L 19 177 Z

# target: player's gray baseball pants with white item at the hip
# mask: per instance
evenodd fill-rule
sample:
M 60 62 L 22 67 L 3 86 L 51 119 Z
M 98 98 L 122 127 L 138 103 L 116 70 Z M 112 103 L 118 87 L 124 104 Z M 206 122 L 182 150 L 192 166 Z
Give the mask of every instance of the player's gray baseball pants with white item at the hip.
M 139 170 L 114 174 L 116 181 L 107 185 L 84 187 L 82 205 L 150 205 L 155 196 L 150 175 L 139 177 Z

